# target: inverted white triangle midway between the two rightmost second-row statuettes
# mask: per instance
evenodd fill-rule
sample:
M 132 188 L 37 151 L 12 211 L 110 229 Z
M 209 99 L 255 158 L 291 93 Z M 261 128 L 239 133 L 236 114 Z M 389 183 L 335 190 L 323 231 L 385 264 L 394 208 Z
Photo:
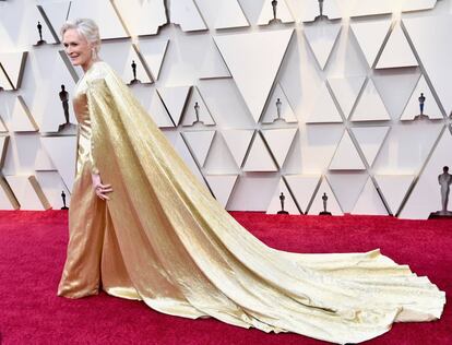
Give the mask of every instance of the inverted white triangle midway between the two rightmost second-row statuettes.
M 346 118 L 349 117 L 365 81 L 366 76 L 329 79 L 329 84 Z

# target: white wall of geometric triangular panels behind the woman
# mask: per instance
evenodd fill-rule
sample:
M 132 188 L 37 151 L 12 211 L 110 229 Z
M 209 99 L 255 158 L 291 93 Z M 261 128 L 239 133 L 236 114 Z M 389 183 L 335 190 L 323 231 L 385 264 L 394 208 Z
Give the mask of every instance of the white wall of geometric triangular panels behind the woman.
M 452 167 L 451 9 L 329 0 L 320 16 L 317 0 L 0 1 L 0 210 L 60 209 L 62 193 L 70 204 L 76 127 L 60 124 L 82 71 L 58 33 L 92 17 L 102 59 L 124 83 L 136 66 L 132 92 L 227 210 L 276 213 L 283 193 L 290 214 L 319 214 L 326 195 L 336 215 L 427 218 Z

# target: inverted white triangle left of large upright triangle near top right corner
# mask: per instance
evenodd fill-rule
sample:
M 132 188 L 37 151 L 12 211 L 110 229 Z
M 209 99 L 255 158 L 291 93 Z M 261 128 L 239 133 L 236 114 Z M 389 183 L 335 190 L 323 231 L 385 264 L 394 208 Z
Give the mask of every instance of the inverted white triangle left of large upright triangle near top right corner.
M 374 3 L 374 1 L 372 0 Z M 377 55 L 391 27 L 391 20 L 353 21 L 350 28 L 366 57 L 369 67 L 373 66 Z

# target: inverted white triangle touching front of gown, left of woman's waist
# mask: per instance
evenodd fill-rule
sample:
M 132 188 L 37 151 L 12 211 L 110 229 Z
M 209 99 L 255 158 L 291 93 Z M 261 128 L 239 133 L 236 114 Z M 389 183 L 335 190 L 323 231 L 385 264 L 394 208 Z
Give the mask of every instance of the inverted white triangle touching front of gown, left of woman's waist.
M 75 176 L 76 138 L 41 136 L 40 142 L 66 186 L 72 190 Z

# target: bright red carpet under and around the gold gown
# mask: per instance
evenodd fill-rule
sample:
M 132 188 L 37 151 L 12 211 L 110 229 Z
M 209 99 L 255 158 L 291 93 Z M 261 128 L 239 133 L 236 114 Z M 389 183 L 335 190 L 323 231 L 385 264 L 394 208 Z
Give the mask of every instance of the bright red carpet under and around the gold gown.
M 452 222 L 382 216 L 266 216 L 234 213 L 269 246 L 297 252 L 381 248 L 452 295 Z M 56 296 L 68 240 L 67 213 L 0 212 L 1 344 L 323 344 L 296 334 L 265 334 L 219 321 L 157 313 L 106 294 Z M 368 344 L 452 344 L 452 312 L 430 323 L 397 323 Z

